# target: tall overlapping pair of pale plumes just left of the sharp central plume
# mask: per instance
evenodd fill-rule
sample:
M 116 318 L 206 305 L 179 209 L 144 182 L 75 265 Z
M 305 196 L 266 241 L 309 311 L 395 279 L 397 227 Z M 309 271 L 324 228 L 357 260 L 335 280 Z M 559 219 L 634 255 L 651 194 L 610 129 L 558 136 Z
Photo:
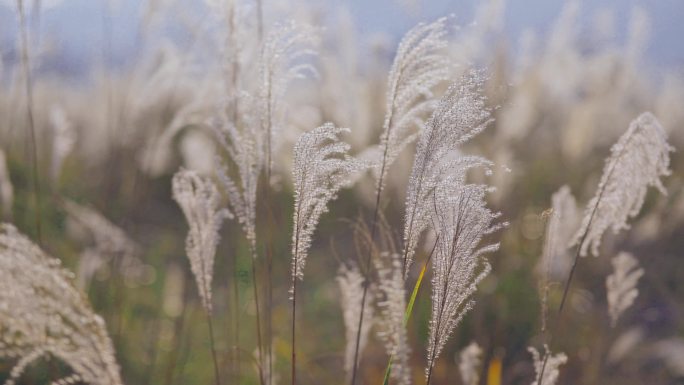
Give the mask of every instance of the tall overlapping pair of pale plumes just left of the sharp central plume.
M 252 78 L 252 68 L 245 63 L 247 55 L 239 46 L 239 37 L 246 33 L 231 8 L 227 22 L 231 26 L 232 52 L 227 53 L 225 78 L 225 108 L 212 125 L 221 148 L 227 153 L 235 170 L 218 158 L 219 180 L 228 195 L 228 204 L 252 247 L 256 257 L 256 201 L 259 176 L 270 176 L 274 153 L 279 142 L 285 113 L 283 101 L 288 84 L 294 79 L 315 74 L 314 67 L 304 59 L 315 55 L 317 37 L 313 28 L 294 22 L 277 25 L 261 47 L 258 76 Z M 228 56 L 230 54 L 230 56 Z M 256 81 L 255 81 L 256 79 Z M 231 172 L 232 171 L 232 172 Z M 270 181 L 267 181 L 270 183 Z

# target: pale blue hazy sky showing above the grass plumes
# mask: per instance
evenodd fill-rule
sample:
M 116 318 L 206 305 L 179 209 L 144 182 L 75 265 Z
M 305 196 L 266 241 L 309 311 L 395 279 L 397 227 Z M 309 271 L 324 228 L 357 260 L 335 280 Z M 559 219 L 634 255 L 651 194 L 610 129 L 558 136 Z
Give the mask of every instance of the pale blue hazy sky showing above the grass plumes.
M 202 0 L 185 0 L 193 3 L 189 10 L 196 11 Z M 302 0 L 300 0 L 301 2 Z M 416 22 L 432 20 L 453 14 L 466 25 L 472 21 L 476 0 L 414 0 L 413 10 L 407 11 L 400 4 L 407 0 L 310 0 L 324 12 L 335 12 L 340 6 L 350 10 L 360 35 L 369 37 L 385 33 L 398 40 Z M 0 54 L 6 62 L 12 60 L 16 33 L 14 0 L 0 0 Z M 31 1 L 26 1 L 31 3 Z M 115 0 L 118 3 L 111 20 L 113 35 L 111 56 L 114 65 L 132 60 L 136 47 L 136 33 L 142 0 Z M 282 0 L 264 0 L 282 4 Z M 298 3 L 292 1 L 290 3 Z M 105 0 L 63 0 L 61 4 L 47 9 L 41 17 L 43 34 L 53 42 L 54 55 L 61 70 L 70 73 L 85 72 L 92 64 L 91 58 L 101 57 L 103 36 L 103 10 Z M 560 14 L 561 0 L 508 0 L 505 11 L 504 33 L 513 45 L 523 31 L 531 29 L 543 34 Z M 684 0 L 593 0 L 581 5 L 581 20 L 590 25 L 594 15 L 601 9 L 614 12 L 614 24 L 618 39 L 624 39 L 629 16 L 634 6 L 641 6 L 651 17 L 651 40 L 646 60 L 657 69 L 684 70 Z M 276 5 L 277 7 L 278 5 Z M 282 7 L 282 5 L 281 5 Z

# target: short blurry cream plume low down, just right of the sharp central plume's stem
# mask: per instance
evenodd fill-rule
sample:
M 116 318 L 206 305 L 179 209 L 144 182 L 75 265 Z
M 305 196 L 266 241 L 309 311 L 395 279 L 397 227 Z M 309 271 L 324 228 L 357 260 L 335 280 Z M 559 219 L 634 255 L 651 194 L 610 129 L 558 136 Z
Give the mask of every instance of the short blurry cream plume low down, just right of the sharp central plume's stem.
M 344 350 L 344 370 L 348 376 L 354 368 L 354 350 L 356 343 L 356 333 L 359 325 L 360 310 L 359 304 L 363 296 L 364 276 L 355 264 L 350 266 L 340 266 L 337 273 L 337 285 L 340 288 L 340 303 L 342 305 L 342 319 L 345 329 L 345 350 Z M 373 325 L 373 308 L 371 306 L 371 296 L 366 297 L 366 309 L 364 313 L 365 322 L 361 326 L 361 339 L 359 349 L 363 350 L 368 342 L 368 334 Z

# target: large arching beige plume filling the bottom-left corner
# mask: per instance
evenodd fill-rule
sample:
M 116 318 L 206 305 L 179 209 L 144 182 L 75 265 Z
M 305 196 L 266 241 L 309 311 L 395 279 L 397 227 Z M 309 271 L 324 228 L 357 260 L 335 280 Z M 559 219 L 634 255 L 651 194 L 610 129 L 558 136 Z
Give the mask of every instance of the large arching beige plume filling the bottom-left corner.
M 0 357 L 18 359 L 6 385 L 46 356 L 74 372 L 53 383 L 122 383 L 104 321 L 72 280 L 58 259 L 14 226 L 0 224 Z

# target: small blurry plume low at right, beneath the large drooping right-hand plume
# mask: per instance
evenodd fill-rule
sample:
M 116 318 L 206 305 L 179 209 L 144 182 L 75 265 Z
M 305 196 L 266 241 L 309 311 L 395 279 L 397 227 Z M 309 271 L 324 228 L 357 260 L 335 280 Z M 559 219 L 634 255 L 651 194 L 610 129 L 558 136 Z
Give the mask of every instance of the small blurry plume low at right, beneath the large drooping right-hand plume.
M 613 274 L 606 277 L 606 294 L 610 322 L 614 327 L 618 318 L 625 312 L 639 295 L 637 283 L 644 275 L 639 261 L 632 254 L 619 253 L 611 261 Z

